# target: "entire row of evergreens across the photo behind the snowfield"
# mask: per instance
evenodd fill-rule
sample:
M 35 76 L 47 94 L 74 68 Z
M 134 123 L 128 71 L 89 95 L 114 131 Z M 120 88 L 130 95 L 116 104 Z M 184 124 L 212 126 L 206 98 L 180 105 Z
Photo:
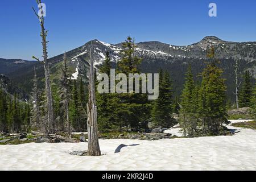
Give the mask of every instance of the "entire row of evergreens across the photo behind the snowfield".
M 115 74 L 141 73 L 142 58 L 135 54 L 135 48 L 134 40 L 128 37 L 122 44 L 122 57 L 115 67 Z M 157 100 L 148 100 L 147 94 L 129 93 L 128 88 L 127 94 L 96 92 L 99 130 L 145 132 L 148 131 L 149 122 L 153 127 L 171 127 L 177 123 L 173 117 L 173 113 L 176 113 L 179 114 L 180 126 L 188 137 L 221 134 L 222 123 L 228 121 L 226 86 L 222 69 L 218 67 L 219 62 L 214 59 L 214 49 L 208 52 L 211 61 L 200 75 L 194 76 L 191 65 L 188 65 L 180 98 L 174 96 L 173 81 L 167 69 L 159 70 Z M 106 52 L 106 59 L 98 73 L 106 73 L 110 77 L 112 68 L 109 53 Z M 240 106 L 250 106 L 256 113 L 256 87 L 253 89 L 251 79 L 250 73 L 246 71 L 240 90 Z M 98 83 L 96 80 L 96 90 Z M 59 82 L 51 85 L 54 101 L 52 133 L 86 131 L 88 86 L 82 78 L 71 79 L 67 71 L 66 56 Z M 21 102 L 15 94 L 11 96 L 0 90 L 0 131 L 16 133 L 35 130 L 45 133 L 47 117 L 46 91 L 38 87 L 36 70 L 30 102 Z

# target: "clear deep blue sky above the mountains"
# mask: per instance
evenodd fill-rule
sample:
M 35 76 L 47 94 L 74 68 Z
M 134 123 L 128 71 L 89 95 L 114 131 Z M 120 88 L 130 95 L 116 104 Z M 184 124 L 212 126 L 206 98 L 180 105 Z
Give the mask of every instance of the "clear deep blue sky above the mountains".
M 120 43 L 127 35 L 137 42 L 158 40 L 184 46 L 215 35 L 235 42 L 256 41 L 255 0 L 42 0 L 47 6 L 49 57 L 92 39 Z M 217 4 L 217 17 L 208 5 Z M 0 1 L 0 57 L 40 57 L 35 0 Z

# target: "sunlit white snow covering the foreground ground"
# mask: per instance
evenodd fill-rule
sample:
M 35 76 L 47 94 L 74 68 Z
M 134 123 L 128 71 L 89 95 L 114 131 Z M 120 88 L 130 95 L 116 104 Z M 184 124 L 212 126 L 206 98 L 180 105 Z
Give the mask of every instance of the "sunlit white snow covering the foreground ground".
M 256 170 L 256 131 L 235 129 L 233 136 L 100 140 L 104 155 L 97 157 L 69 154 L 87 143 L 0 146 L 0 170 Z M 114 154 L 119 144 L 139 145 Z

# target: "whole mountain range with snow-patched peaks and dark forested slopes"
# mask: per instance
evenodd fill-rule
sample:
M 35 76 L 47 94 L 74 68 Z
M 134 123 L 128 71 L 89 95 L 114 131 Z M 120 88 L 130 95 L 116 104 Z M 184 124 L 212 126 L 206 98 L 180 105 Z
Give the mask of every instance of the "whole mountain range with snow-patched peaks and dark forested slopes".
M 113 67 L 121 59 L 120 51 L 122 44 L 109 44 L 100 40 L 92 40 L 81 47 L 66 52 L 68 59 L 68 71 L 72 79 L 82 77 L 87 81 L 89 69 L 90 48 L 92 47 L 92 58 L 96 68 L 104 61 L 105 53 L 110 53 Z M 245 70 L 250 70 L 251 75 L 256 76 L 256 42 L 228 42 L 216 36 L 206 36 L 200 42 L 188 46 L 174 46 L 157 41 L 137 43 L 136 53 L 143 58 L 141 71 L 144 73 L 156 73 L 159 68 L 170 72 L 173 80 L 174 92 L 179 94 L 187 70 L 187 65 L 192 65 L 193 73 L 197 76 L 203 68 L 207 59 L 207 49 L 215 48 L 215 57 L 220 60 L 220 67 L 224 70 L 228 95 L 233 100 L 234 90 L 234 61 L 239 59 L 240 78 Z M 50 50 L 49 50 L 50 51 Z M 61 75 L 61 67 L 64 53 L 49 59 L 51 77 L 57 83 Z M 0 73 L 8 76 L 15 86 L 22 88 L 27 93 L 31 92 L 34 67 L 39 76 L 40 85 L 43 86 L 43 65 L 36 61 L 7 60 L 0 59 Z M 200 80 L 200 77 L 198 77 Z

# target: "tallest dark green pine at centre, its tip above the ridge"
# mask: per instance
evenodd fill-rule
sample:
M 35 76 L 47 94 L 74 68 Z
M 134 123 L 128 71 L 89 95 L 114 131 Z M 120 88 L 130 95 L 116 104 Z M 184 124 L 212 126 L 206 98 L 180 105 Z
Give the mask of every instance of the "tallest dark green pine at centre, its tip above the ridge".
M 117 73 L 124 73 L 126 76 L 129 73 L 140 73 L 139 67 L 142 63 L 142 58 L 135 55 L 135 42 L 128 36 L 127 40 L 122 43 L 121 56 L 118 61 Z M 135 91 L 135 90 L 134 90 Z M 118 116 L 119 126 L 129 126 L 135 130 L 139 130 L 142 126 L 146 127 L 146 123 L 150 119 L 150 104 L 148 104 L 147 94 L 129 93 L 115 94 L 114 98 L 119 104 L 115 110 Z M 128 94 L 129 93 L 129 94 Z M 146 129 L 146 128 L 144 128 Z

